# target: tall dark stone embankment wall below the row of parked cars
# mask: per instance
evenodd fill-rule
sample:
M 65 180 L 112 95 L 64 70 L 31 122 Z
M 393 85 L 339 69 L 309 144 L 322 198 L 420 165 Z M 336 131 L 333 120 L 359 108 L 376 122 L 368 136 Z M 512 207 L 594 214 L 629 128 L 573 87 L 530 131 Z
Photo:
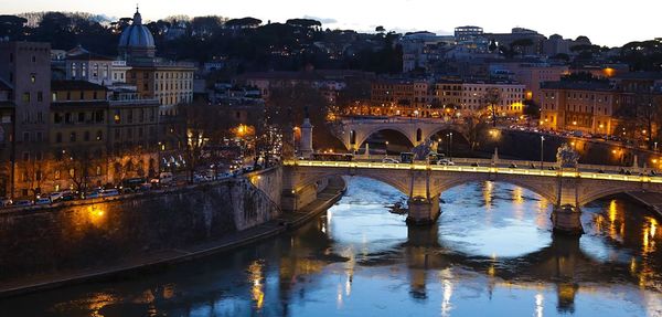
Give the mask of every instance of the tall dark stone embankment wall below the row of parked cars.
M 111 266 L 265 223 L 280 215 L 281 173 L 2 211 L 0 281 Z

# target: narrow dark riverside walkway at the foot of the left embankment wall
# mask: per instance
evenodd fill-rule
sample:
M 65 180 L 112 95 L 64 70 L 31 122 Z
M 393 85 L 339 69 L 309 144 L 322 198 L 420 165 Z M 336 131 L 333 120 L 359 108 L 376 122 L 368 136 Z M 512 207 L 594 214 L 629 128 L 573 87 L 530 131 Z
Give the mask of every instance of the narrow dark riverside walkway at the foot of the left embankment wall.
M 323 191 L 318 193 L 318 199 L 299 212 L 282 214 L 264 224 L 229 234 L 215 241 L 146 253 L 140 256 L 128 257 L 121 261 L 121 263 L 111 266 L 57 272 L 56 274 L 43 274 L 32 276 L 31 278 L 2 282 L 0 283 L 0 297 L 103 281 L 113 276 L 143 272 L 159 266 L 172 265 L 220 252 L 227 252 L 299 228 L 340 200 L 345 189 L 346 183 L 341 178 L 334 178 L 330 180 L 329 186 Z

